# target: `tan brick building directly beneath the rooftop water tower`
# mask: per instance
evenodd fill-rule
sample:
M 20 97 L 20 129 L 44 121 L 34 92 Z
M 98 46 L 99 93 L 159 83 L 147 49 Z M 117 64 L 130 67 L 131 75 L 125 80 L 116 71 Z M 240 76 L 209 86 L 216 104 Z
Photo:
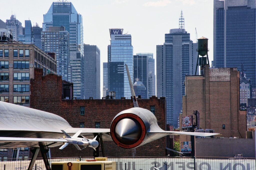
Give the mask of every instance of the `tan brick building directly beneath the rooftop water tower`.
M 204 68 L 204 75 L 186 76 L 183 116 L 200 112 L 200 129 L 213 129 L 216 137 L 246 138 L 246 111 L 239 109 L 237 68 Z M 180 127 L 182 122 L 180 121 Z M 190 136 L 180 136 L 190 141 Z

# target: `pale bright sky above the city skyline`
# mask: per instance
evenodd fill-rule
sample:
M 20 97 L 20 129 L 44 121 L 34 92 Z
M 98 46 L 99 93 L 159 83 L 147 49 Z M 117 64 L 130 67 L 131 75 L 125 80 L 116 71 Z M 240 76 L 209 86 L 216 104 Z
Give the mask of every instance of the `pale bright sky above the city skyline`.
M 0 19 L 4 22 L 12 14 L 25 26 L 25 20 L 42 27 L 43 14 L 57 0 L 1 1 Z M 156 45 L 163 45 L 164 34 L 179 27 L 181 10 L 190 39 L 202 36 L 209 39 L 209 61 L 213 60 L 213 0 L 68 0 L 83 17 L 84 44 L 97 45 L 101 55 L 101 96 L 103 62 L 107 62 L 110 44 L 109 28 L 123 28 L 132 35 L 133 54 L 152 52 L 156 59 Z

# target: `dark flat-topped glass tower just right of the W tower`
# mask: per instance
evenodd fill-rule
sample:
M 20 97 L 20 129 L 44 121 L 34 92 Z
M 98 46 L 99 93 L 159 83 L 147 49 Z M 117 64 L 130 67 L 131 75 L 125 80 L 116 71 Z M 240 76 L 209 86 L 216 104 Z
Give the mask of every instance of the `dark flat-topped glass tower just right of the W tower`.
M 146 88 L 145 96 L 143 99 L 148 98 L 148 57 L 147 56 L 133 56 L 133 83 L 136 81 L 141 81 L 141 83 L 136 83 L 136 86 L 143 84 Z M 135 85 L 134 85 L 135 86 Z M 135 93 L 136 96 L 141 95 Z

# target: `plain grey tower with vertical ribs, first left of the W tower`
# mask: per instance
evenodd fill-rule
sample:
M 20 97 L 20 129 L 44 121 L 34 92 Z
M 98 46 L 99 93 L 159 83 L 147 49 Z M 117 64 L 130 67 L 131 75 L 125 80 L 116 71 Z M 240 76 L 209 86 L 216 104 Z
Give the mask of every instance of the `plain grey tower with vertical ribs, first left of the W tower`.
M 96 45 L 83 45 L 85 99 L 100 99 L 100 49 Z

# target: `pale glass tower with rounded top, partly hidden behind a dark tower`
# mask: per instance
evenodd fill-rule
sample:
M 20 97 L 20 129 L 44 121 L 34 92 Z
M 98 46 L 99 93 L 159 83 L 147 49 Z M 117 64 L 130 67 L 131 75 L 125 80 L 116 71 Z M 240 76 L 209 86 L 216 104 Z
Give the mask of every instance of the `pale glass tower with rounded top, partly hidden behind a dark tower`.
M 156 95 L 155 59 L 153 58 L 153 53 L 141 52 L 136 53 L 136 55 L 148 57 L 148 97 Z

